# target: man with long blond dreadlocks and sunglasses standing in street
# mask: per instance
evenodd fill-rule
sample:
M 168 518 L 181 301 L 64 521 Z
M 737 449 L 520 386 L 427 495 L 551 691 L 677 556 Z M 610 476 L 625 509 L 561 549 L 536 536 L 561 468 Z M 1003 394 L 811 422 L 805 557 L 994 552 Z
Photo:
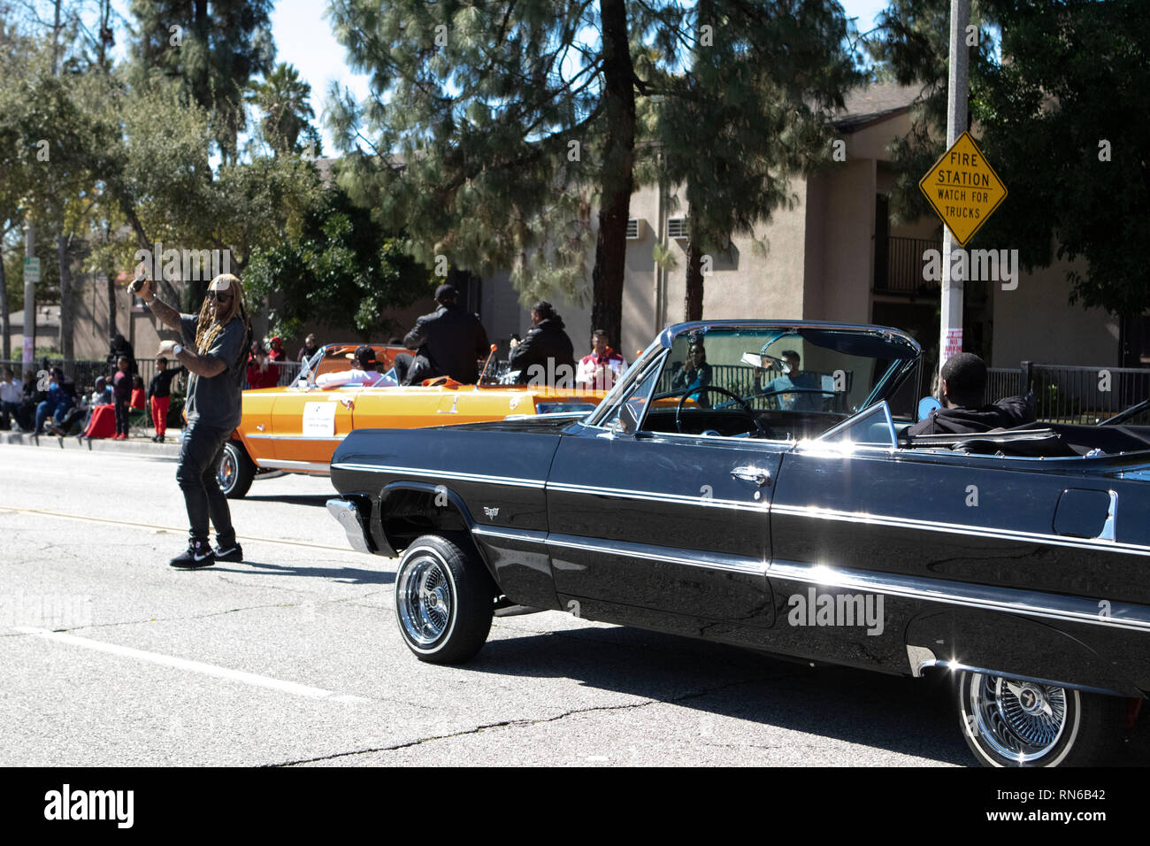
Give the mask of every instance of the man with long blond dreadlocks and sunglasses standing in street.
M 195 570 L 217 561 L 243 561 L 228 500 L 216 482 L 216 467 L 240 418 L 240 388 L 252 335 L 244 289 L 230 273 L 216 276 L 199 314 L 181 314 L 159 300 L 150 280 L 133 292 L 164 326 L 181 334 L 181 342 L 161 342 L 156 355 L 174 357 L 191 374 L 184 403 L 187 426 L 176 470 L 187 506 L 189 543 L 186 551 L 171 559 L 171 566 Z M 208 543 L 208 518 L 216 531 L 215 549 Z

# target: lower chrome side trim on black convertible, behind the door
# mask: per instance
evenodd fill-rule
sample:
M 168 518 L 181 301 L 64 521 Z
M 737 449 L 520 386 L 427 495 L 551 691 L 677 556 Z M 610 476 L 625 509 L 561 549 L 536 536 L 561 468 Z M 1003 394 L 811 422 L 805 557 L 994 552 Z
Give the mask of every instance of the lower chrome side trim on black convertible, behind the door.
M 968 585 L 918 576 L 828 567 L 823 564 L 775 561 L 767 567 L 767 576 L 812 585 L 845 587 L 859 590 L 905 596 L 923 602 L 964 605 L 987 611 L 1021 613 L 1071 623 L 1111 626 L 1150 632 L 1150 607 L 1132 602 L 1109 602 L 1040 590 L 1011 587 Z

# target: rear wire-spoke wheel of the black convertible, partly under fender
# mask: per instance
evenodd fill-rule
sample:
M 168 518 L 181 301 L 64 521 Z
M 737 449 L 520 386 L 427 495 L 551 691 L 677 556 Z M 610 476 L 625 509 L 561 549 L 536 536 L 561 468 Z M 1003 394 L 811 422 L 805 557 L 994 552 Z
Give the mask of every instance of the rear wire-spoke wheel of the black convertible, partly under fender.
M 965 670 L 957 688 L 963 737 L 984 767 L 1102 764 L 1121 737 L 1117 696 Z

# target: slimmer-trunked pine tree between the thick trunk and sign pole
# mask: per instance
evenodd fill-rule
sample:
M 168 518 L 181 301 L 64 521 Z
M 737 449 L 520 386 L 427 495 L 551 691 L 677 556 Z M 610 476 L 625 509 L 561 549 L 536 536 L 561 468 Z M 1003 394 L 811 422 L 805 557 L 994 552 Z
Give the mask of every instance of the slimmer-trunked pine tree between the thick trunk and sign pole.
M 703 256 L 789 203 L 789 176 L 830 161 L 830 110 L 861 82 L 842 7 L 699 0 L 685 69 L 661 93 L 654 175 L 687 200 L 684 319 L 703 319 Z

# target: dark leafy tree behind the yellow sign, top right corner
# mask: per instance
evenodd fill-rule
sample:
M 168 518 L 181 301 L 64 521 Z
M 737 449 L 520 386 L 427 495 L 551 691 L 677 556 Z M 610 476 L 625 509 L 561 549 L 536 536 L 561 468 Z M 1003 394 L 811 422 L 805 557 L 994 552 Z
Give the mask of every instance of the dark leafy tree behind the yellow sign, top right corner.
M 892 206 L 907 218 L 926 213 L 917 183 L 944 148 L 948 7 L 895 0 L 873 45 L 881 73 L 926 85 L 914 132 L 896 148 Z M 1068 274 L 1072 302 L 1141 313 L 1150 307 L 1145 3 L 980 0 L 972 22 L 981 31 L 971 121 L 1010 190 L 974 243 L 1017 247 L 1030 268 L 1084 259 Z

